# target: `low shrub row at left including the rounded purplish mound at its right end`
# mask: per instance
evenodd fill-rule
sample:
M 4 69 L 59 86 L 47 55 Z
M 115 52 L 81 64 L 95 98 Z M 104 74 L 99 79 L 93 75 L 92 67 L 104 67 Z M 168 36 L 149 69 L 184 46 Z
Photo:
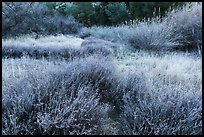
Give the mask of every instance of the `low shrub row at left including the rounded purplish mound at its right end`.
M 29 56 L 36 59 L 73 59 L 83 58 L 94 54 L 108 56 L 112 55 L 115 50 L 117 50 L 117 48 L 114 43 L 95 38 L 89 38 L 82 42 L 81 45 L 66 42 L 58 43 L 57 40 L 52 43 L 49 41 L 44 43 L 40 40 L 35 41 L 34 39 L 30 39 L 28 42 L 8 39 L 3 42 L 2 58 L 21 58 L 23 56 Z

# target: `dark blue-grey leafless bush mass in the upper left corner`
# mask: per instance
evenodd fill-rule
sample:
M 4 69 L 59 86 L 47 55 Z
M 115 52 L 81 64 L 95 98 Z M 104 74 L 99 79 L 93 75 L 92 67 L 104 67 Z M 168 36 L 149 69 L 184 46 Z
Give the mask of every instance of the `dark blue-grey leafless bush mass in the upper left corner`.
M 81 25 L 73 17 L 52 15 L 44 3 L 3 2 L 2 36 L 13 37 L 35 33 L 39 35 L 78 33 Z

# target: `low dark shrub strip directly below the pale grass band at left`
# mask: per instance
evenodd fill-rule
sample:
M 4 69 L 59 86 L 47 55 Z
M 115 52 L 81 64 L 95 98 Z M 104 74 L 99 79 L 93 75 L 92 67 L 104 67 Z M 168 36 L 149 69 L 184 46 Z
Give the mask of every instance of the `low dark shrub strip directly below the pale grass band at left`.
M 64 58 L 70 59 L 80 55 L 80 50 L 71 46 L 67 47 L 43 47 L 40 45 L 6 45 L 2 47 L 3 58 L 21 58 L 29 56 L 31 58 Z

